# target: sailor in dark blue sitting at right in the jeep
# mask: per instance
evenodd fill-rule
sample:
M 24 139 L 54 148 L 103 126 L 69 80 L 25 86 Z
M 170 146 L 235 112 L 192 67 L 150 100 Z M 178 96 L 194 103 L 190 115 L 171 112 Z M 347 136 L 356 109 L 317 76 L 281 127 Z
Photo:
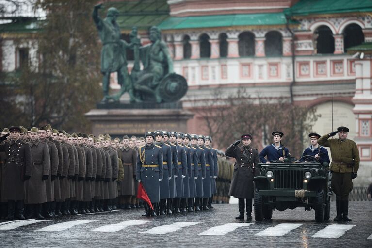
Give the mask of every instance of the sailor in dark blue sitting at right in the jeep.
M 300 161 L 314 161 L 312 157 L 304 157 L 304 156 L 313 156 L 317 161 L 319 161 L 322 165 L 324 162 L 329 164 L 329 156 L 328 150 L 318 144 L 318 139 L 321 137 L 318 133 L 310 133 L 310 147 L 304 150 Z

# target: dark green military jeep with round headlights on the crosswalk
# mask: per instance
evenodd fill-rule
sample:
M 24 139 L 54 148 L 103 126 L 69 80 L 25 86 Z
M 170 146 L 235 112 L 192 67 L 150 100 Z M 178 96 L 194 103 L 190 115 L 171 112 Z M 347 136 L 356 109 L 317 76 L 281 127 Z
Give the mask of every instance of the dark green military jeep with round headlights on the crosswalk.
M 316 222 L 329 219 L 332 191 L 328 163 L 321 165 L 312 158 L 313 162 L 285 159 L 258 164 L 259 176 L 254 177 L 256 221 L 270 220 L 275 209 L 296 207 L 314 209 Z

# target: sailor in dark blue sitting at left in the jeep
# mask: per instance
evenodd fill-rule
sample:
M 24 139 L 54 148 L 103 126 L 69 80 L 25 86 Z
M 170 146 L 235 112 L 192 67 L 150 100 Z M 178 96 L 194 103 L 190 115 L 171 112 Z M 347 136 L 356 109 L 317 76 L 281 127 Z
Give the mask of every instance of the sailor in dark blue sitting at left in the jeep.
M 270 161 L 280 160 L 284 161 L 286 157 L 290 155 L 290 151 L 281 144 L 283 133 L 279 131 L 274 131 L 271 133 L 273 135 L 274 143 L 265 147 L 259 153 L 259 160 L 261 163 L 269 164 Z M 267 156 L 267 160 L 265 157 Z

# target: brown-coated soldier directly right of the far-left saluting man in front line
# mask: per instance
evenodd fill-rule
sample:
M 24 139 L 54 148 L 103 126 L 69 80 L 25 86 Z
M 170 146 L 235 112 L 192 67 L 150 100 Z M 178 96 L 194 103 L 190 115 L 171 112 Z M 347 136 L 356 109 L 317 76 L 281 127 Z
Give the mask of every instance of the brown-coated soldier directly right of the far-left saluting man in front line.
M 26 204 L 28 213 L 26 219 L 44 219 L 41 215 L 42 203 L 47 202 L 47 188 L 45 181 L 49 178 L 50 157 L 49 147 L 41 142 L 38 136 L 39 130 L 33 127 L 30 132 L 32 177 L 26 181 Z

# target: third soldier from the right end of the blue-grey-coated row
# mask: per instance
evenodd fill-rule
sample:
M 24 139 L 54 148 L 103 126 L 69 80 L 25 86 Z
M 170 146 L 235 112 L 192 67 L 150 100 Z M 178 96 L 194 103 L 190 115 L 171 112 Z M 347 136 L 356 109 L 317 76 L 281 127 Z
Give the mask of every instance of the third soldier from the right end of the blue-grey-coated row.
M 197 149 L 197 156 L 198 156 L 198 164 L 197 164 L 197 169 L 198 169 L 198 177 L 195 179 L 195 185 L 196 185 L 196 194 L 195 194 L 195 211 L 200 211 L 200 198 L 203 197 L 204 191 L 203 191 L 203 181 L 206 177 L 206 166 L 205 166 L 205 154 L 204 154 L 204 149 L 200 148 L 197 145 L 197 140 L 198 140 L 198 135 L 196 134 L 191 134 L 191 145 Z M 195 165 L 194 165 L 195 166 Z

